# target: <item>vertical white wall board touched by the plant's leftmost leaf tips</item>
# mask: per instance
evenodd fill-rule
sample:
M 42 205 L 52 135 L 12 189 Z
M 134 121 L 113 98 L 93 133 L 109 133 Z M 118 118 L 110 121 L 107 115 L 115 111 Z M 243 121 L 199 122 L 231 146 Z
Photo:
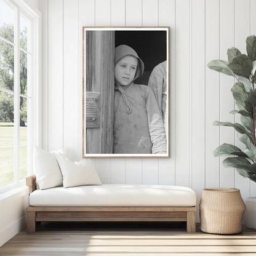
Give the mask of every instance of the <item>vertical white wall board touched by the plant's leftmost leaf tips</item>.
M 219 1 L 206 0 L 206 65 L 219 55 Z M 219 119 L 219 78 L 218 72 L 206 67 L 206 187 L 220 185 L 219 162 L 212 152 L 219 145 L 219 128 L 212 126 Z

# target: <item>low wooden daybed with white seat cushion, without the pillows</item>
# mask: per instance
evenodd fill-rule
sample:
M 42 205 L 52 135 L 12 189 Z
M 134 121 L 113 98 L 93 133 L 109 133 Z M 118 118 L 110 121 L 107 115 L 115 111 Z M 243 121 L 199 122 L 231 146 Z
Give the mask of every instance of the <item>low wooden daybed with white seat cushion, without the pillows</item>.
M 90 185 L 36 190 L 36 177 L 26 178 L 30 206 L 27 232 L 42 221 L 186 222 L 196 231 L 196 193 L 183 186 Z

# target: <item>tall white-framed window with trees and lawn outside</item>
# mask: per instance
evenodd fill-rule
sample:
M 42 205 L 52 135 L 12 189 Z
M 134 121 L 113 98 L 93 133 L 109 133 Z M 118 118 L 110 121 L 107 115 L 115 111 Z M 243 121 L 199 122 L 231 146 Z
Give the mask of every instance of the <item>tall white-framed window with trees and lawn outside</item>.
M 0 192 L 32 172 L 38 143 L 40 15 L 0 0 Z

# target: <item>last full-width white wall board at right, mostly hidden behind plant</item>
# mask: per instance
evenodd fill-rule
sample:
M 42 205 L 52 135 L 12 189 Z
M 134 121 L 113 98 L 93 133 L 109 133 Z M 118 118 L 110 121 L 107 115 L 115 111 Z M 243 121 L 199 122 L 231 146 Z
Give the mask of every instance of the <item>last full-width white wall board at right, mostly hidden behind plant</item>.
M 250 34 L 250 0 L 235 1 L 235 46 L 246 54 L 246 38 Z M 240 118 L 236 120 L 240 121 Z M 238 147 L 242 143 L 237 140 Z M 250 196 L 250 180 L 244 178 L 236 172 L 236 188 L 241 190 L 243 198 Z

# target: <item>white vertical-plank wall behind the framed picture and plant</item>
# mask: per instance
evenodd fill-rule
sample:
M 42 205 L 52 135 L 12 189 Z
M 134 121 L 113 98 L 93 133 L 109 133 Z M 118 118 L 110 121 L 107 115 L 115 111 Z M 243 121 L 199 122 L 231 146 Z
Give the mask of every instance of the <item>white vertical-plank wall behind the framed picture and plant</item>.
M 82 155 L 82 26 L 170 26 L 169 159 L 95 159 L 103 183 L 147 183 L 202 188 L 228 186 L 243 197 L 256 185 L 222 167 L 212 151 L 239 143 L 234 121 L 233 78 L 209 70 L 226 49 L 246 51 L 256 33 L 255 0 L 38 0 L 43 33 L 43 146 Z

